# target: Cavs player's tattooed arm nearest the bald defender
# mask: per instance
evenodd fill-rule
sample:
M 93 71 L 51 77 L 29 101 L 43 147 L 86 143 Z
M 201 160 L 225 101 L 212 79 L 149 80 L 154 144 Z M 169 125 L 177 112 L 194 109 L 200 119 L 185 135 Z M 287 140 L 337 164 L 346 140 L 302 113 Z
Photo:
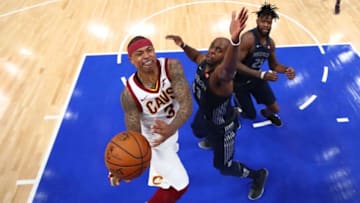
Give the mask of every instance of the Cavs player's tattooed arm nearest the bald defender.
M 182 126 L 192 113 L 192 97 L 190 87 L 185 79 L 184 70 L 178 60 L 169 60 L 169 75 L 171 79 L 171 86 L 173 88 L 175 98 L 180 104 L 179 111 L 177 112 L 171 125 L 174 129 Z

